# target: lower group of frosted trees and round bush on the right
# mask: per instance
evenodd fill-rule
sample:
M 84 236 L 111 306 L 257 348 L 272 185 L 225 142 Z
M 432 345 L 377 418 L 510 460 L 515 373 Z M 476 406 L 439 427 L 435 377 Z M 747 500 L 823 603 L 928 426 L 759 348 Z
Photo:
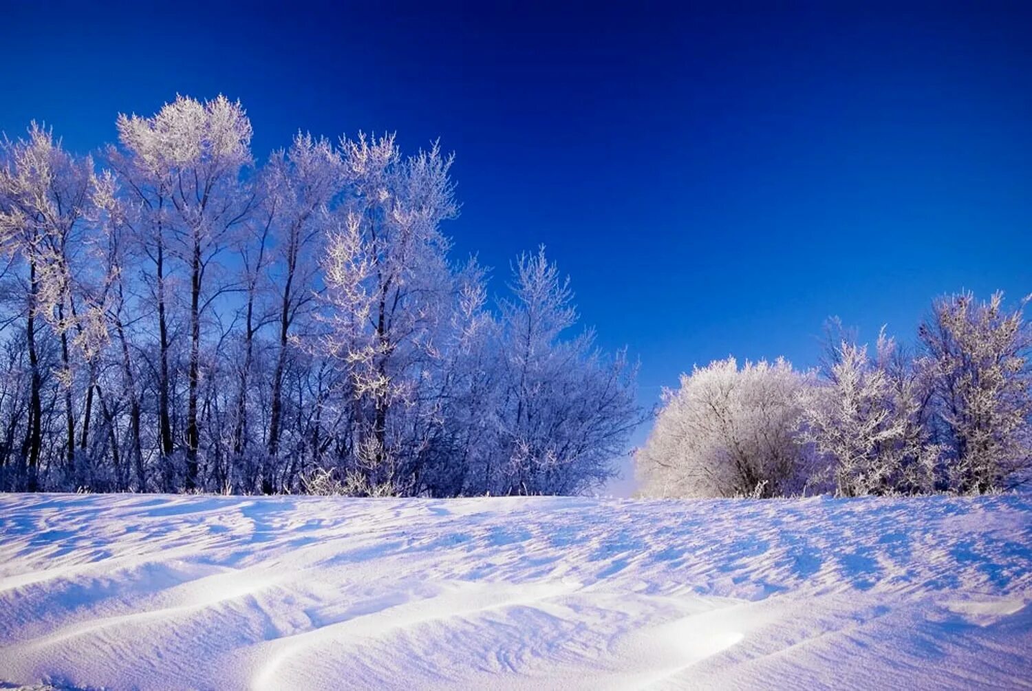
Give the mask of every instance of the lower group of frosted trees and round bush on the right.
M 935 301 L 908 355 L 840 327 L 816 372 L 734 358 L 696 368 L 664 394 L 636 453 L 650 496 L 777 497 L 985 493 L 1032 468 L 1028 299 Z

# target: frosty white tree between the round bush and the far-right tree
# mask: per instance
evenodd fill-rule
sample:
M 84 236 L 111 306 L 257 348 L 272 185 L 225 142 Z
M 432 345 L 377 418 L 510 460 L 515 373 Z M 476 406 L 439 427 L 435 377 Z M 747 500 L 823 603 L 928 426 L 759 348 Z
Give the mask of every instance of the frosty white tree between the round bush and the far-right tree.
M 867 346 L 840 341 L 827 381 L 803 390 L 804 438 L 830 465 L 839 496 L 933 486 L 939 449 L 924 426 L 927 378 L 898 353 L 883 332 L 873 359 Z

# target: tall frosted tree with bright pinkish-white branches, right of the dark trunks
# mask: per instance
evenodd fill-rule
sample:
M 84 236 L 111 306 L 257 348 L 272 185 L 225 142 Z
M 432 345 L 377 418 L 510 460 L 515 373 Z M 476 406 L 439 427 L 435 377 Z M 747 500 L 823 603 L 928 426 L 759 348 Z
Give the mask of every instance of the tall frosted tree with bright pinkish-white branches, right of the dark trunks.
M 412 413 L 452 291 L 440 227 L 458 209 L 451 158 L 437 146 L 402 157 L 392 135 L 342 148 L 350 189 L 323 261 L 329 329 L 320 347 L 346 373 L 346 472 L 408 492 L 427 431 Z

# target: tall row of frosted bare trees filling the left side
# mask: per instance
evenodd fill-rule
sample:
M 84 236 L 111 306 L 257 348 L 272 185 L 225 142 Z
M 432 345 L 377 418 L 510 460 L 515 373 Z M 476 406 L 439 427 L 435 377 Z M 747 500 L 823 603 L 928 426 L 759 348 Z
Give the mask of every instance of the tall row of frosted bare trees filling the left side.
M 634 368 L 519 257 L 449 259 L 452 159 L 307 134 L 255 165 L 239 103 L 46 129 L 0 162 L 0 488 L 567 494 L 640 420 Z

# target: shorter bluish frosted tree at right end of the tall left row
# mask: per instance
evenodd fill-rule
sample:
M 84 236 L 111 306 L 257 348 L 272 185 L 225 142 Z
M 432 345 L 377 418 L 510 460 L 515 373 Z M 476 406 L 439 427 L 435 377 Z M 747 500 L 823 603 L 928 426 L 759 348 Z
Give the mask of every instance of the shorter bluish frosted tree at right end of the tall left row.
M 503 456 L 485 468 L 496 494 L 576 494 L 605 483 L 612 461 L 641 420 L 635 368 L 605 357 L 577 323 L 569 279 L 544 248 L 521 255 L 513 296 L 502 305 L 497 412 Z M 493 477 L 492 477 L 493 476 Z

